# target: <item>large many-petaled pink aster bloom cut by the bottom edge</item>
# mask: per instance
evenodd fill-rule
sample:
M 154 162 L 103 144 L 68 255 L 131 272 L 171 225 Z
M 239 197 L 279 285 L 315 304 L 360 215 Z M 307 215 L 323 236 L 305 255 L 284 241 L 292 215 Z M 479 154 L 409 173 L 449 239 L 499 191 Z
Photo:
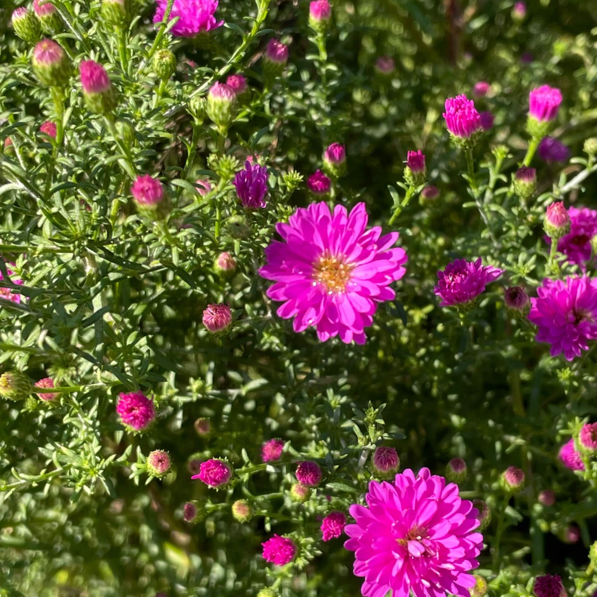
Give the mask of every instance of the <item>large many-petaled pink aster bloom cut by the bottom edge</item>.
M 371 481 L 367 506 L 353 504 L 356 524 L 344 532 L 344 547 L 355 552 L 355 576 L 364 577 L 364 597 L 469 597 L 483 536 L 472 502 L 458 486 L 423 468 L 396 475 L 393 483 Z

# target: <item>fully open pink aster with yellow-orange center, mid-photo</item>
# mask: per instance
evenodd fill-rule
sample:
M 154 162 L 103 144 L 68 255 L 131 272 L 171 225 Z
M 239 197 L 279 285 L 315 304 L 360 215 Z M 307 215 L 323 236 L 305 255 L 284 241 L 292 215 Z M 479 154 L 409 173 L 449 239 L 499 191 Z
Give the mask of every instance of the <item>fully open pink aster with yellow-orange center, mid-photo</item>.
M 346 344 L 363 344 L 377 303 L 395 298 L 389 285 L 404 276 L 406 253 L 391 248 L 397 232 L 366 231 L 367 219 L 364 203 L 350 214 L 336 205 L 332 214 L 322 201 L 276 225 L 284 242 L 266 248 L 259 274 L 276 282 L 267 296 L 284 301 L 278 316 L 294 317 L 294 331 L 313 326 L 322 342 L 339 335 Z

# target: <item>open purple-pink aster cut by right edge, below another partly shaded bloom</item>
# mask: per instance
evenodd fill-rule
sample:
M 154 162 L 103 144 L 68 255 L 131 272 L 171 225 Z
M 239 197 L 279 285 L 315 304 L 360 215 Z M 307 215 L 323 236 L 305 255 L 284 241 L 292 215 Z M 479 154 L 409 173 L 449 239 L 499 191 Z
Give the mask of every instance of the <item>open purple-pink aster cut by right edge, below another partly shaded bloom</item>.
M 551 344 L 550 354 L 572 361 L 597 338 L 597 279 L 588 276 L 543 280 L 531 298 L 528 319 L 539 328 L 535 339 Z

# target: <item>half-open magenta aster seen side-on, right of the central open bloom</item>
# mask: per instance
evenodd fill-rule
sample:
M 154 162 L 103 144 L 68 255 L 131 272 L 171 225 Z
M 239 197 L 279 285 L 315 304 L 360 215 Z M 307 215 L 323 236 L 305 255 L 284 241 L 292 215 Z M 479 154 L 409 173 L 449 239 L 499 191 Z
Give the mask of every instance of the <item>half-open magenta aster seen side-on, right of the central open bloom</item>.
M 503 273 L 497 267 L 481 265 L 481 257 L 476 261 L 457 259 L 438 272 L 438 285 L 433 292 L 442 299 L 440 307 L 469 304 Z

